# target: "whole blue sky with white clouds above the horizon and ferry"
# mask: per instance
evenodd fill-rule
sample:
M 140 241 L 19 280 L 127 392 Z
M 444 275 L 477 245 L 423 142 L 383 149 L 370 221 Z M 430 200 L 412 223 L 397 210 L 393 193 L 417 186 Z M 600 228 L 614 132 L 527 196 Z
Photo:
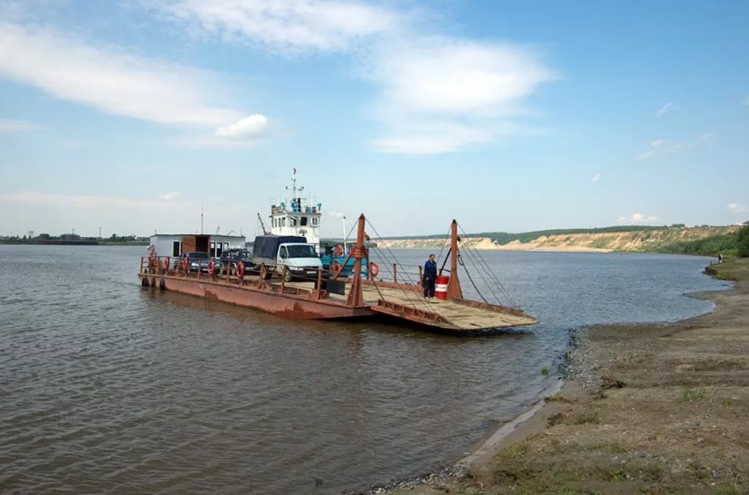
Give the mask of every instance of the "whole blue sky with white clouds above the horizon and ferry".
M 0 235 L 749 220 L 749 2 L 0 0 Z M 351 224 L 351 220 L 349 220 Z

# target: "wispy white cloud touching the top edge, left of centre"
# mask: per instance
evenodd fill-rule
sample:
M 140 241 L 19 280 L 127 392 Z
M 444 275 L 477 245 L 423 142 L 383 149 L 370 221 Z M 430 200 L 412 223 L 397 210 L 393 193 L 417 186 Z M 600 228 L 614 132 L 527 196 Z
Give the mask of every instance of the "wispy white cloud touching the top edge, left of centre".
M 395 31 L 403 14 L 364 1 L 153 0 L 144 2 L 192 30 L 242 37 L 276 52 L 348 52 Z

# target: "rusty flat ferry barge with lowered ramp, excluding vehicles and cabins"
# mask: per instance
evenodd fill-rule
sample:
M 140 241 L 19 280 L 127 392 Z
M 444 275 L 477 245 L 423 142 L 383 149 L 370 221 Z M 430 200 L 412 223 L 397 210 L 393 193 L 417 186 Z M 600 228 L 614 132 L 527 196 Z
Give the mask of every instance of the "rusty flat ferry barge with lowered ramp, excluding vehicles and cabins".
M 172 257 L 158 256 L 155 251 L 142 257 L 138 278 L 143 287 L 173 290 L 297 319 L 395 318 L 458 334 L 538 323 L 519 308 L 464 299 L 458 273 L 461 246 L 455 220 L 450 229 L 449 252 L 437 277 L 437 299 L 430 300 L 422 297 L 421 267 L 416 282 L 403 281 L 404 273 L 402 269 L 398 272 L 397 263 L 393 263 L 392 271 L 388 270 L 389 277 L 380 273 L 371 261 L 370 248 L 366 247 L 369 236 L 365 227 L 366 217 L 361 214 L 354 248 L 344 263 L 318 269 L 316 277 L 306 280 L 288 281 L 283 275 L 269 278 L 267 267 L 250 270 L 242 262 L 223 274 L 215 266 L 209 267 L 207 273 L 190 272 L 187 266 L 172 266 Z M 345 274 L 342 268 L 352 260 L 351 274 Z M 449 269 L 445 269 L 448 261 Z

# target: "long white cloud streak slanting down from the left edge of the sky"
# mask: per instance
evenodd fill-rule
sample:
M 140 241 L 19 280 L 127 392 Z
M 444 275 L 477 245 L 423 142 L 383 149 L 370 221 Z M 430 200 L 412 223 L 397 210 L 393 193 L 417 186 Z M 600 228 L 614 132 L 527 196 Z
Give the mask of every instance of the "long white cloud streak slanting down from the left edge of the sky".
M 213 74 L 42 26 L 0 22 L 0 77 L 55 98 L 159 124 L 215 127 L 242 117 L 216 103 L 225 85 Z

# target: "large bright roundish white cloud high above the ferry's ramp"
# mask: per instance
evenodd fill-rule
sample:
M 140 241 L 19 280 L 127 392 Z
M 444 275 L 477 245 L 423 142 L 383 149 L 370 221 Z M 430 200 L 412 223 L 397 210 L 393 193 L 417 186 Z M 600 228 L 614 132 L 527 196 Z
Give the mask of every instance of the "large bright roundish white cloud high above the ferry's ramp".
M 500 136 L 539 133 L 516 124 L 522 102 L 556 75 L 530 49 L 429 37 L 380 49 L 364 77 L 380 86 L 375 148 L 442 153 Z

